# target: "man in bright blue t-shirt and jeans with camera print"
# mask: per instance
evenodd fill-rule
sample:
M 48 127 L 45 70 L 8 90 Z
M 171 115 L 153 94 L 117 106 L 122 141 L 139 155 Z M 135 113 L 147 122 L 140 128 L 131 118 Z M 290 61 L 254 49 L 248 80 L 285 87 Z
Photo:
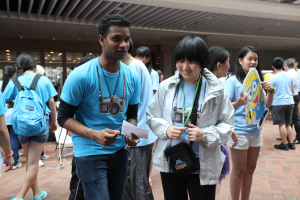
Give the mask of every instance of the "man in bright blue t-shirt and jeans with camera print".
M 138 138 L 118 131 L 124 120 L 137 125 L 140 102 L 138 74 L 120 62 L 128 51 L 129 26 L 122 15 L 105 16 L 98 37 L 102 55 L 75 68 L 61 94 L 58 122 L 72 132 L 85 199 L 124 196 L 128 166 L 124 147 L 136 146 Z

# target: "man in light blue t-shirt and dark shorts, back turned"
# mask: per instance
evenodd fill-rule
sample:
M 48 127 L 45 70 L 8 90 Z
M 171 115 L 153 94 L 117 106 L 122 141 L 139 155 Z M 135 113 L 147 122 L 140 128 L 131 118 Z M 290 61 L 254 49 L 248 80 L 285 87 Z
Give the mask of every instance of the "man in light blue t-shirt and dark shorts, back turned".
M 281 144 L 274 145 L 274 147 L 276 149 L 289 150 L 295 149 L 292 139 L 293 129 L 290 126 L 294 108 L 292 93 L 293 79 L 282 70 L 283 63 L 282 58 L 274 58 L 272 68 L 276 74 L 269 78 L 269 83 L 276 88 L 272 102 L 272 118 L 273 124 L 279 126 L 279 133 L 282 140 Z

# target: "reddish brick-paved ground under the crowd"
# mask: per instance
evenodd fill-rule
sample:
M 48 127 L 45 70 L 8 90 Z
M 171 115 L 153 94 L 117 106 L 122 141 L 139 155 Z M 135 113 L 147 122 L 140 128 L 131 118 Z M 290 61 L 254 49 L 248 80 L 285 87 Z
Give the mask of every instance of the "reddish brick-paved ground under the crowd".
M 262 200 L 300 200 L 300 145 L 296 145 L 295 151 L 275 150 L 273 145 L 277 143 L 278 128 L 271 124 L 270 119 L 266 121 L 263 127 L 264 146 L 258 160 L 255 171 L 250 199 Z M 54 151 L 55 144 L 47 143 L 45 152 L 50 155 L 45 160 L 45 166 L 39 171 L 39 185 L 43 190 L 47 190 L 49 200 L 67 200 L 69 195 L 69 180 L 71 171 L 71 158 L 65 158 L 62 170 L 57 169 L 58 152 Z M 72 149 L 64 150 L 65 153 L 71 153 Z M 25 164 L 23 156 L 20 161 Z M 0 200 L 10 200 L 13 194 L 16 194 L 22 185 L 24 179 L 25 167 L 18 168 L 8 173 L 3 173 L 0 178 Z M 157 171 L 152 172 L 153 193 L 155 200 L 163 200 L 163 192 L 160 176 Z M 25 200 L 32 199 L 32 193 L 29 192 Z M 219 200 L 228 200 L 229 177 L 223 181 L 218 194 Z

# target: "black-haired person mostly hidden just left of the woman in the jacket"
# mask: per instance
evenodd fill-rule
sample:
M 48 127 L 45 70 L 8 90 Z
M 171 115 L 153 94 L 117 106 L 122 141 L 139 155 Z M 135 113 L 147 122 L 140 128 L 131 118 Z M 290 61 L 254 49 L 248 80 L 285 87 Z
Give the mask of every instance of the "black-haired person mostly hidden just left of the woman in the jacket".
M 142 61 L 146 65 L 151 76 L 153 95 L 155 95 L 156 91 L 158 90 L 159 76 L 158 73 L 153 70 L 150 49 L 148 47 L 141 46 L 135 51 L 135 58 Z

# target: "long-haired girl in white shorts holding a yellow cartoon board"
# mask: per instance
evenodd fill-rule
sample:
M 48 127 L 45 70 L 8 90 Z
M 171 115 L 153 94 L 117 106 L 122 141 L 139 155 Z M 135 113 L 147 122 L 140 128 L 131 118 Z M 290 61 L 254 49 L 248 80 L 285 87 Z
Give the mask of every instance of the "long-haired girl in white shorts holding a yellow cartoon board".
M 269 94 L 265 99 L 267 108 L 271 106 L 273 93 L 276 91 L 270 83 L 263 82 L 258 51 L 252 46 L 243 47 L 236 60 L 234 75 L 227 79 L 224 86 L 225 93 L 235 108 L 234 129 L 238 134 L 237 146 L 230 149 L 233 166 L 230 177 L 232 180 L 230 192 L 233 200 L 239 199 L 240 193 L 242 199 L 249 199 L 253 173 L 262 146 L 261 130 L 258 130 L 257 123 L 246 124 L 245 104 L 248 102 L 248 95 L 241 97 L 243 81 L 251 68 L 257 69 L 262 87 L 268 90 Z M 230 143 L 228 144 L 230 146 Z

